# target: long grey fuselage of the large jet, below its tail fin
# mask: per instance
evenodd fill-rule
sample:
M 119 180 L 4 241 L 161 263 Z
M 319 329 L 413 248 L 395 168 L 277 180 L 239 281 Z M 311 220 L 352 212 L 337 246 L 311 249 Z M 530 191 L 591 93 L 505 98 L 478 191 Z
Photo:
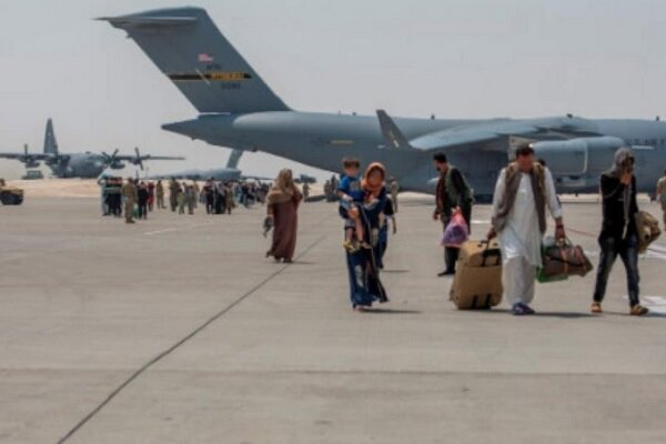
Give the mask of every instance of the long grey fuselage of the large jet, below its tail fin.
M 493 125 L 511 128 L 524 123 L 547 124 L 561 118 L 533 120 L 436 120 L 395 119 L 404 135 L 420 135 L 453 128 Z M 653 192 L 666 167 L 666 123 L 647 120 L 592 120 L 575 118 L 578 125 L 595 133 L 617 138 L 635 148 L 638 186 Z M 198 119 L 170 123 L 163 129 L 204 140 L 208 143 L 242 150 L 264 151 L 311 167 L 339 172 L 343 157 L 356 157 L 363 164 L 383 162 L 404 190 L 432 192 L 436 172 L 432 151 L 404 151 L 385 147 L 377 119 L 367 115 L 305 113 L 295 111 L 256 112 L 248 114 L 202 114 Z M 497 174 L 507 163 L 505 148 L 497 141 L 471 144 L 466 151 L 448 153 L 450 162 L 465 171 L 477 194 L 493 192 Z M 613 162 L 617 147 L 594 147 L 585 150 L 579 173 L 558 175 L 559 192 L 595 192 L 598 176 Z M 446 152 L 446 150 L 443 150 Z M 557 151 L 555 151 L 555 154 Z M 564 151 L 563 151 L 564 153 Z

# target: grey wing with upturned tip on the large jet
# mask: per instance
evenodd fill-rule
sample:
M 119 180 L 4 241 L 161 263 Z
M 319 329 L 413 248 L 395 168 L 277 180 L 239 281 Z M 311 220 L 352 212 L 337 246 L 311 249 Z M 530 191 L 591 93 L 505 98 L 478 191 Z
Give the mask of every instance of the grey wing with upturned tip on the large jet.
M 482 144 L 485 151 L 506 151 L 506 147 L 516 140 L 566 140 L 582 135 L 598 135 L 589 122 L 571 115 L 566 118 L 546 118 L 531 121 L 497 120 L 480 124 L 452 128 L 423 134 L 407 140 L 393 119 L 379 110 L 380 128 L 390 150 L 415 151 L 464 151 Z

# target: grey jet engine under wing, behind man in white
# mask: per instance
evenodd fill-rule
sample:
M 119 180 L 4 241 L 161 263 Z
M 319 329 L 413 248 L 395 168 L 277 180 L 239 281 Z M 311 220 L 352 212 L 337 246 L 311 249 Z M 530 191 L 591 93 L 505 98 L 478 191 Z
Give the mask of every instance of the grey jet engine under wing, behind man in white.
M 544 160 L 554 175 L 569 178 L 602 171 L 620 147 L 626 147 L 624 140 L 609 135 L 532 143 L 536 158 Z

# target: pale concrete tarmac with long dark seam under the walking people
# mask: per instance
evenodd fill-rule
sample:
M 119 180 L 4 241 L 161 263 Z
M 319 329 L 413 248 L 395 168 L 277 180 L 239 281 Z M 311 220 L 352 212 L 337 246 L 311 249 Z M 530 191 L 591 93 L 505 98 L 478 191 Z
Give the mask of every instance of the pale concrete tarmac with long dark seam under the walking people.
M 0 206 L 0 442 L 664 443 L 666 240 L 640 260 L 648 317 L 620 264 L 602 316 L 593 274 L 539 285 L 533 317 L 458 312 L 430 202 L 401 201 L 391 302 L 366 314 L 334 204 L 302 206 L 290 265 L 264 259 L 263 208 L 128 226 L 97 199 Z M 598 204 L 565 221 L 596 264 Z

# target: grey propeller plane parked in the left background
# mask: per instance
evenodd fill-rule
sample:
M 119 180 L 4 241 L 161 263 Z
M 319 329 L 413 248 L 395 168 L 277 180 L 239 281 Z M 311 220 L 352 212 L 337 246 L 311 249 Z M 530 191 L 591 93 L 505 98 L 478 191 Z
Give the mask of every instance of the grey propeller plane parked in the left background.
M 84 153 L 60 153 L 56 132 L 53 131 L 53 121 L 47 121 L 47 132 L 44 135 L 43 153 L 28 152 L 28 145 L 23 145 L 22 153 L 0 152 L 0 159 L 13 159 L 26 164 L 26 168 L 38 168 L 44 162 L 57 178 L 80 178 L 95 179 L 104 170 L 122 170 L 125 163 L 131 163 L 143 170 L 143 162 L 147 160 L 184 160 L 185 158 L 173 158 L 164 155 L 141 155 L 139 148 L 134 148 L 134 155 L 118 154 L 119 150 L 112 154 L 97 154 L 90 151 Z

